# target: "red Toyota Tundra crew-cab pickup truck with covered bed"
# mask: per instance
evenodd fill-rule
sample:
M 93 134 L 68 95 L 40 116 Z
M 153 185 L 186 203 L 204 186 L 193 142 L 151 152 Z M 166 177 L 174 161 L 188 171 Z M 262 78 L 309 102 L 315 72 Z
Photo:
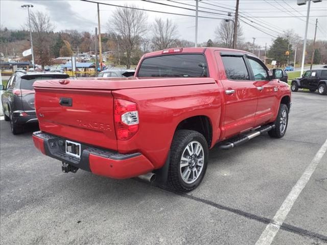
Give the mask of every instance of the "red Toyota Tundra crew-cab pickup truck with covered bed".
M 133 78 L 36 81 L 33 141 L 66 173 L 156 177 L 190 191 L 217 143 L 284 136 L 291 94 L 281 78 L 250 53 L 210 47 L 146 54 Z

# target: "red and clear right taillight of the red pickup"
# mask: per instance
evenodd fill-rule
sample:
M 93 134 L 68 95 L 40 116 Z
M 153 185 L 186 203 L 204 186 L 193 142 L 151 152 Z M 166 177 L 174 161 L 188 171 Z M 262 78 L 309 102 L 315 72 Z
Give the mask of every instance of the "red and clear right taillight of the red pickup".
M 135 103 L 114 99 L 114 126 L 118 140 L 130 139 L 138 130 L 138 111 Z

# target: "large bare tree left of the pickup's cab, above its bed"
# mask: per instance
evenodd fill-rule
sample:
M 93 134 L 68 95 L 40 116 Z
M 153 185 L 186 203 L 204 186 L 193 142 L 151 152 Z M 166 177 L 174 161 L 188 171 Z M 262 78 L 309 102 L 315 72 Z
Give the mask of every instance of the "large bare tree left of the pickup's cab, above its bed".
M 108 22 L 109 30 L 111 23 L 113 29 L 122 37 L 122 49 L 127 56 L 126 66 L 130 68 L 131 56 L 139 47 L 142 35 L 147 32 L 147 15 L 141 10 L 117 8 Z

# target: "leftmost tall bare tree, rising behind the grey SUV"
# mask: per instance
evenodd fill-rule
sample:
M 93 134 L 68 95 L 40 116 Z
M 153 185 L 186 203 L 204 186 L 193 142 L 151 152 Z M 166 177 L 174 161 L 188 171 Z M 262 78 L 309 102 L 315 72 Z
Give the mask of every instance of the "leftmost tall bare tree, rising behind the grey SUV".
M 35 13 L 31 12 L 31 28 L 35 61 L 44 68 L 44 65 L 51 64 L 50 48 L 52 38 L 49 34 L 53 32 L 54 26 L 48 15 L 37 11 Z

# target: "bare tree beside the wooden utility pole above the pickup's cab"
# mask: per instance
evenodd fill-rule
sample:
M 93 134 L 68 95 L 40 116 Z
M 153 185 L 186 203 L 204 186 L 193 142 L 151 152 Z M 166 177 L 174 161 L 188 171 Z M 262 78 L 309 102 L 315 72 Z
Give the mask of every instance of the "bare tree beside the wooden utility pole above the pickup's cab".
M 220 26 L 216 28 L 215 34 L 218 43 L 223 47 L 232 48 L 233 46 L 234 24 L 232 21 L 222 20 Z M 237 43 L 241 43 L 243 36 L 242 28 L 238 27 Z

